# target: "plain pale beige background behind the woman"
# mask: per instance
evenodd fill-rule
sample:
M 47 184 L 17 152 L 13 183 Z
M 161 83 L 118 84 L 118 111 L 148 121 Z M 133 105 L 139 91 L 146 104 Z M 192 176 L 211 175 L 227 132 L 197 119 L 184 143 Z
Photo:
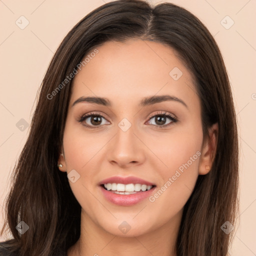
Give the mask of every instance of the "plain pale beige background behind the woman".
M 0 225 L 10 171 L 27 138 L 34 100 L 47 65 L 64 35 L 104 0 L 0 0 Z M 159 2 L 157 0 L 151 1 Z M 163 1 L 161 1 L 163 2 Z M 232 256 L 256 255 L 256 1 L 169 0 L 194 13 L 214 35 L 232 84 L 240 140 L 240 223 Z M 25 24 L 24 16 L 29 24 Z M 231 19 L 234 24 L 229 26 Z M 224 19 L 223 19 L 224 18 Z M 20 21 L 22 19 L 22 21 Z M 221 22 L 221 20 L 223 21 Z M 15 24 L 17 20 L 18 25 Z M 223 26 L 224 25 L 224 26 Z M 22 121 L 21 121 L 22 122 Z M 5 237 L 0 237 L 4 240 Z

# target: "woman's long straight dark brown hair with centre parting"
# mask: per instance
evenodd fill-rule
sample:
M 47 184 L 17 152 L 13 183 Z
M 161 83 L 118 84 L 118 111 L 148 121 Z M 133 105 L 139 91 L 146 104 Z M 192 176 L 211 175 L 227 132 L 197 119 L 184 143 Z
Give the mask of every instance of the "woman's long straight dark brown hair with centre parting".
M 176 240 L 177 256 L 225 256 L 232 238 L 221 226 L 235 224 L 238 211 L 236 116 L 221 53 L 207 28 L 189 11 L 172 3 L 151 6 L 142 0 L 108 2 L 82 18 L 65 36 L 43 78 L 27 141 L 14 166 L 5 198 L 9 241 L 20 256 L 64 254 L 80 235 L 81 207 L 57 160 L 62 145 L 72 79 L 85 54 L 109 40 L 153 40 L 175 49 L 194 76 L 200 97 L 203 135 L 218 123 L 211 170 L 199 175 L 186 202 Z M 51 94 L 52 95 L 52 94 Z M 24 221 L 22 235 L 15 226 Z

